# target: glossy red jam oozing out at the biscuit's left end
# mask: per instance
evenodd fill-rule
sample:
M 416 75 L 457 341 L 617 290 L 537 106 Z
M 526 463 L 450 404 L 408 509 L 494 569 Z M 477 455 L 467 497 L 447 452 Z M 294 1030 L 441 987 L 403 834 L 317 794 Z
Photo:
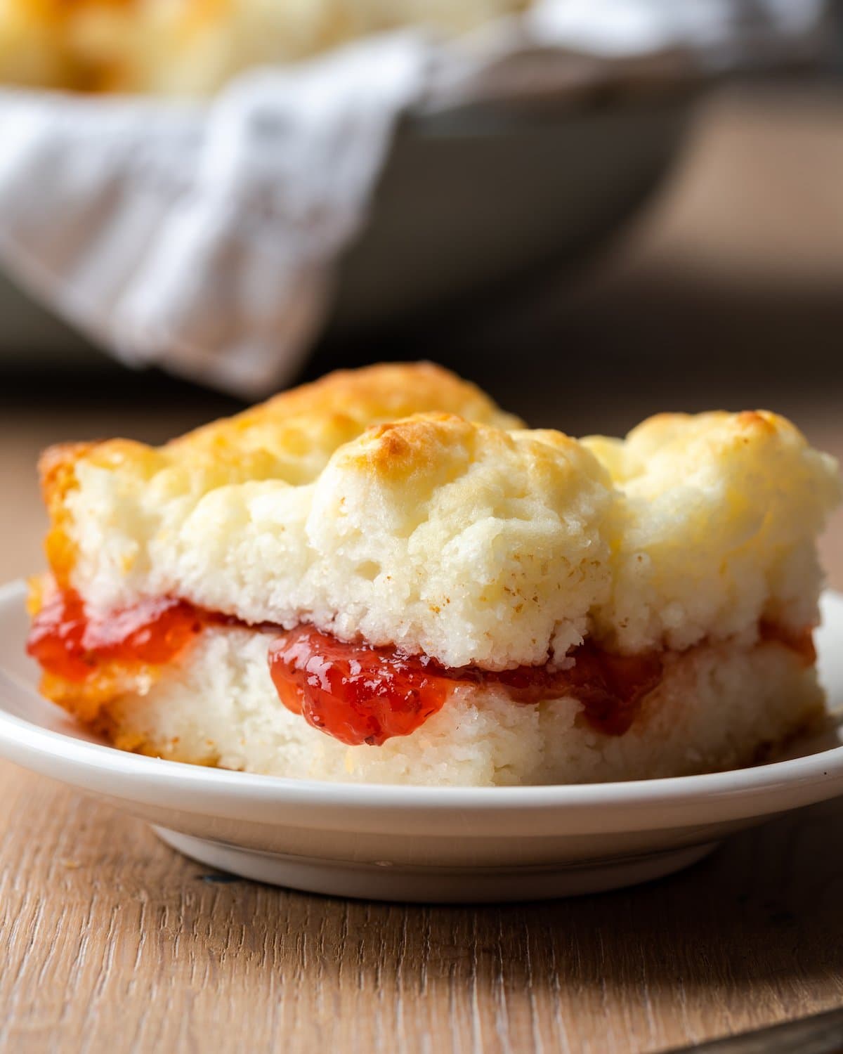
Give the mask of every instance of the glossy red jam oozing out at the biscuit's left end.
M 171 597 L 97 618 L 78 593 L 66 590 L 52 596 L 35 617 L 26 650 L 48 674 L 84 681 L 109 662 L 162 666 L 205 622 L 203 612 Z

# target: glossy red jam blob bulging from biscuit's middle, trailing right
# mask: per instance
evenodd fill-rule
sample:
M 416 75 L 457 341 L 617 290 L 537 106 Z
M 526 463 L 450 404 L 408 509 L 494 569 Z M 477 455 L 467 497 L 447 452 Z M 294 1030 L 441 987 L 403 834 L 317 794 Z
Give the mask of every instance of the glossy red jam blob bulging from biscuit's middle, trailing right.
M 380 745 L 409 736 L 460 684 L 499 686 L 515 703 L 574 696 L 592 727 L 621 736 L 662 674 L 658 653 L 627 658 L 586 644 L 570 669 L 519 666 L 493 672 L 444 667 L 426 656 L 347 644 L 299 626 L 270 647 L 270 672 L 285 706 L 344 743 Z

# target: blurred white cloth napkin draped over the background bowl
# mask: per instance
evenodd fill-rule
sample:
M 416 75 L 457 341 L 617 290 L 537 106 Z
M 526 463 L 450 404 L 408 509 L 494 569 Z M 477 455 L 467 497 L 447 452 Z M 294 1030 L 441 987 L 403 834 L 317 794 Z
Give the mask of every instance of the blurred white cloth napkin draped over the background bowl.
M 401 31 L 254 71 L 207 104 L 0 92 L 0 259 L 123 362 L 256 397 L 318 335 L 403 114 L 666 57 L 689 76 L 777 61 L 823 7 L 541 0 L 457 42 Z

